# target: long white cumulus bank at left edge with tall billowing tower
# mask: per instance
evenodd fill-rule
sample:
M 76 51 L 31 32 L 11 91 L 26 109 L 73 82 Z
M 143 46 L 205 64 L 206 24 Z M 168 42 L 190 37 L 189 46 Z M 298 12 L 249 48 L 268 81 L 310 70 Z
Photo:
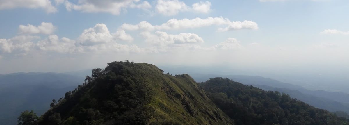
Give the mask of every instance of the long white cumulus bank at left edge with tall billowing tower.
M 33 30 L 34 29 L 34 30 Z M 49 34 L 40 30 L 40 26 L 20 27 L 20 33 Z M 83 30 L 77 39 L 57 35 L 49 35 L 40 39 L 38 36 L 21 35 L 10 39 L 0 39 L 0 55 L 3 53 L 27 54 L 29 52 L 57 52 L 57 53 L 103 53 L 103 52 L 150 52 L 153 49 L 143 49 L 137 45 L 120 44 L 119 42 L 133 41 L 133 37 L 125 30 L 118 29 L 111 33 L 105 24 L 96 24 L 94 27 Z

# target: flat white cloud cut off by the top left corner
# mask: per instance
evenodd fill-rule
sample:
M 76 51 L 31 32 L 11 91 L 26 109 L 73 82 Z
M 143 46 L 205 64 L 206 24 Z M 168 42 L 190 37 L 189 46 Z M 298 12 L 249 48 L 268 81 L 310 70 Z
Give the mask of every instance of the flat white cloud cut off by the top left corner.
M 47 13 L 57 12 L 50 0 L 0 0 L 0 10 L 12 8 L 43 8 Z

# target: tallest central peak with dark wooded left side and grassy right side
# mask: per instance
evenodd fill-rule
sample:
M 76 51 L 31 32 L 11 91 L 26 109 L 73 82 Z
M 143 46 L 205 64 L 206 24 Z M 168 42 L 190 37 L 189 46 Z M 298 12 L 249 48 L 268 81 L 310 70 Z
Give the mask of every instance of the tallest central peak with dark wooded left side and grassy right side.
M 233 124 L 189 75 L 111 62 L 40 117 L 39 125 Z

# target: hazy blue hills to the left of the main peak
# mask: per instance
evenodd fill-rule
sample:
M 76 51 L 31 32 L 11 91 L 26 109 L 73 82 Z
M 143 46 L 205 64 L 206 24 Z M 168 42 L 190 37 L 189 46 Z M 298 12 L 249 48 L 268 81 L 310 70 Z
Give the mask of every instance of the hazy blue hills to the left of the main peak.
M 0 123 L 15 125 L 23 110 L 38 115 L 50 107 L 52 99 L 76 88 L 83 77 L 61 73 L 12 73 L 0 75 Z

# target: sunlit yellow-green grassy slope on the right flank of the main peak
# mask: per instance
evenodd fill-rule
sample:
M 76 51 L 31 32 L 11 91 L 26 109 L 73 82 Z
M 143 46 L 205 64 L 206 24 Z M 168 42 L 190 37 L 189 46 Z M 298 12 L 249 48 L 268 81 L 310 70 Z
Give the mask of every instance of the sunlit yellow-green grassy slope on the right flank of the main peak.
M 138 65 L 148 72 L 144 72 L 144 78 L 154 94 L 149 105 L 156 109 L 157 117 L 190 125 L 218 125 L 230 121 L 189 75 L 166 75 L 155 65 Z

